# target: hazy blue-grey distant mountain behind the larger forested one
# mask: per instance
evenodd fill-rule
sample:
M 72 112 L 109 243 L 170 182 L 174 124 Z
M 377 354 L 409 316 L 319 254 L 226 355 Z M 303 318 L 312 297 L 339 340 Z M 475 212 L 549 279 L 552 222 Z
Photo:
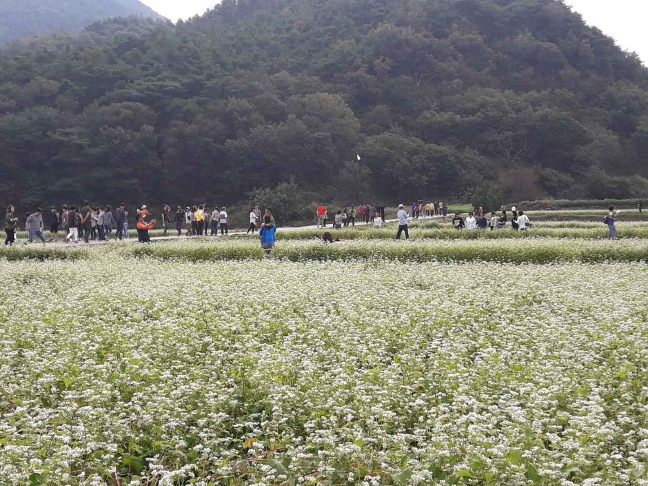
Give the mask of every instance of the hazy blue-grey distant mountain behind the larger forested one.
M 98 20 L 132 15 L 160 18 L 139 0 L 0 0 L 0 43 L 79 32 Z

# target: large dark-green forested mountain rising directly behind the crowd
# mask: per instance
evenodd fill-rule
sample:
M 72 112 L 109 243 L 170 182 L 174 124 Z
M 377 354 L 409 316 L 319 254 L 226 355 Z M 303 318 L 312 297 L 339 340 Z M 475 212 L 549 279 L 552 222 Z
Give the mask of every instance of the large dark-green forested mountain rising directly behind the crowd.
M 225 0 L 0 54 L 0 202 L 623 197 L 647 161 L 648 70 L 554 0 Z

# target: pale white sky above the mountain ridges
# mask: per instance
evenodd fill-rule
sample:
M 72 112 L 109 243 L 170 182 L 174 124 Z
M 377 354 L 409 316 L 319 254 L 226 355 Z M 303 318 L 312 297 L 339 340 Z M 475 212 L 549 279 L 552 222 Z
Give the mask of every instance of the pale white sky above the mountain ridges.
M 142 0 L 172 21 L 203 14 L 216 0 Z M 624 49 L 637 52 L 648 64 L 647 0 L 567 0 L 585 21 L 614 37 Z

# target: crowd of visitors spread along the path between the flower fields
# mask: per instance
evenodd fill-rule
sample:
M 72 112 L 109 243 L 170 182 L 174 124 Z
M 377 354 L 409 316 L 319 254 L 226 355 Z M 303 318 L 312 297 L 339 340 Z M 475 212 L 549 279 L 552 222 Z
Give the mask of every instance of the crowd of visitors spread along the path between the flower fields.
M 409 239 L 410 219 L 427 219 L 434 216 L 447 216 L 448 207 L 444 201 L 414 201 L 409 211 L 405 210 L 405 205 L 398 205 L 396 219 L 398 220 L 398 230 L 396 239 L 401 239 L 405 234 L 405 239 Z M 641 205 L 639 205 L 641 210 Z M 161 210 L 161 228 L 163 236 L 168 236 L 170 231 L 175 230 L 176 236 L 225 236 L 229 234 L 229 216 L 226 207 L 214 207 L 212 210 L 207 208 L 207 203 L 192 206 L 178 206 L 175 212 L 169 205 L 162 205 Z M 326 228 L 330 221 L 329 210 L 324 203 L 319 204 L 315 210 L 317 227 Z M 617 239 L 616 219 L 618 211 L 614 206 L 609 207 L 609 211 L 604 218 L 604 223 L 608 226 L 607 237 Z M 50 241 L 59 241 L 59 232 L 63 233 L 65 243 L 78 243 L 83 240 L 85 243 L 90 241 L 108 241 L 111 238 L 115 240 L 128 239 L 129 231 L 129 214 L 126 210 L 125 203 L 121 203 L 115 210 L 110 205 L 90 205 L 85 201 L 81 207 L 75 205 L 63 205 L 61 212 L 56 207 L 50 207 L 49 228 Z M 361 204 L 347 205 L 334 212 L 332 227 L 340 230 L 342 227 L 355 226 L 356 221 L 366 223 L 374 228 L 383 227 L 385 222 L 385 205 Z M 524 211 L 518 211 L 513 206 L 508 212 L 502 208 L 499 212 L 492 211 L 489 215 L 478 207 L 476 211 L 469 212 L 464 219 L 459 212 L 455 212 L 452 217 L 452 226 L 456 230 L 503 230 L 509 225 L 514 231 L 527 231 L 531 227 L 531 221 Z M 147 243 L 150 241 L 149 231 L 156 225 L 156 219 L 152 216 L 146 205 L 142 205 L 136 210 L 135 228 L 138 235 L 138 241 Z M 13 205 L 7 207 L 5 216 L 5 245 L 12 245 L 15 240 L 15 233 L 19 227 L 19 218 Z M 28 240 L 25 244 L 32 243 L 39 239 L 45 243 L 45 223 L 43 210 L 38 207 L 33 213 L 26 214 L 25 230 L 28 232 Z M 115 231 L 112 236 L 112 231 Z M 272 210 L 268 207 L 261 214 L 259 205 L 250 208 L 250 226 L 247 227 L 247 234 L 259 232 L 261 244 L 265 252 L 270 252 L 274 247 L 276 222 L 272 215 Z M 331 238 L 329 232 L 325 233 Z

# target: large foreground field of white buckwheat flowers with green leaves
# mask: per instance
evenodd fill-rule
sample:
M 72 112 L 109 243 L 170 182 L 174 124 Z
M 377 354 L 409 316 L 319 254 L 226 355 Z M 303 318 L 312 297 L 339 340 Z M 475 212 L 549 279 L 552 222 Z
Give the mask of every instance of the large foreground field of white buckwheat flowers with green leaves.
M 2 485 L 648 485 L 645 263 L 0 272 Z

